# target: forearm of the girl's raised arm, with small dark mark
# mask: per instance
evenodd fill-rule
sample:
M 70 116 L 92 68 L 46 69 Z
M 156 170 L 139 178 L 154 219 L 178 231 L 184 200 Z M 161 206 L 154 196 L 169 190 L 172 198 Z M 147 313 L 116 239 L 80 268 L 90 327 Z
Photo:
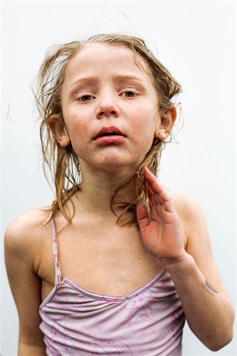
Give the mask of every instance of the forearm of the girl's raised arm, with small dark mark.
M 175 264 L 165 265 L 170 274 L 192 332 L 216 351 L 232 339 L 234 312 L 228 298 L 205 284 L 193 257 L 186 253 Z

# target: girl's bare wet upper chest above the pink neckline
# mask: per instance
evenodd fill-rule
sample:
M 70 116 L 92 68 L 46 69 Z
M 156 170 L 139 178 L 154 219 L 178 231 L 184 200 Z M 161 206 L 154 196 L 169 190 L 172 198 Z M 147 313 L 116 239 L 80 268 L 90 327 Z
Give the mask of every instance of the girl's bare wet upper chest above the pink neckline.
M 54 224 L 57 231 L 61 229 L 59 219 L 54 219 Z M 183 231 L 185 246 L 184 236 Z M 61 279 L 67 277 L 87 290 L 107 295 L 130 293 L 163 268 L 146 250 L 135 226 L 72 224 L 57 236 L 57 251 Z M 51 228 L 43 237 L 38 275 L 44 300 L 55 279 Z

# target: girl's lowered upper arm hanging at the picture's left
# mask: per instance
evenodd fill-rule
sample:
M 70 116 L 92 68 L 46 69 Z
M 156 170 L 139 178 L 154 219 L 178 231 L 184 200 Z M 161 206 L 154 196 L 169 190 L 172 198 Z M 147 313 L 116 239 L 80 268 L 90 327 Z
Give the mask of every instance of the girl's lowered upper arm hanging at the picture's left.
M 43 345 L 38 313 L 41 280 L 34 272 L 37 247 L 28 213 L 8 225 L 4 234 L 5 265 L 19 316 L 19 341 Z

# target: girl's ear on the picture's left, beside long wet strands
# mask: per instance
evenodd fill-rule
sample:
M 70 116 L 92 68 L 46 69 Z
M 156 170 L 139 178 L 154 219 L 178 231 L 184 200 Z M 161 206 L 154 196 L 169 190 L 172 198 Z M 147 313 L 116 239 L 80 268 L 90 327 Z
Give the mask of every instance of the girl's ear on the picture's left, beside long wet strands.
M 47 125 L 52 131 L 54 138 L 61 147 L 66 147 L 70 143 L 63 118 L 59 114 L 53 114 L 47 119 Z

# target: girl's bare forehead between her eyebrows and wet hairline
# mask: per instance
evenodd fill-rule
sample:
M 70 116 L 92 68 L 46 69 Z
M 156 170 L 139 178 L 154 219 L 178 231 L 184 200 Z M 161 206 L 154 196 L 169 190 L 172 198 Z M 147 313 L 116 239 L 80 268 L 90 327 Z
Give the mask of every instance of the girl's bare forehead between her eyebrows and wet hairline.
M 106 43 L 86 44 L 71 58 L 65 69 L 64 80 L 70 80 L 78 74 L 96 74 L 101 71 L 103 75 L 110 73 L 126 72 L 130 75 L 137 75 L 144 81 L 149 81 L 149 69 L 145 61 L 137 54 L 136 62 L 133 59 L 131 49 L 121 45 L 111 45 Z M 105 70 L 105 71 L 104 71 Z

